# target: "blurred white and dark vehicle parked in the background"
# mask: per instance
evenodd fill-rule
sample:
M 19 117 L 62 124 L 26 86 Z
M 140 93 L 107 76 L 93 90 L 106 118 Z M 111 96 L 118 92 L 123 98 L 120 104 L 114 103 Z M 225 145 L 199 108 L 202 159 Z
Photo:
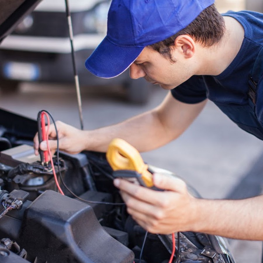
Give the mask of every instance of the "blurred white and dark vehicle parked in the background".
M 101 79 L 86 70 L 86 58 L 106 35 L 109 0 L 69 0 L 77 73 L 81 86 L 118 84 L 132 103 L 145 103 L 152 84 L 132 80 L 127 70 Z M 0 80 L 5 90 L 21 81 L 74 82 L 71 45 L 64 0 L 43 0 L 0 46 Z

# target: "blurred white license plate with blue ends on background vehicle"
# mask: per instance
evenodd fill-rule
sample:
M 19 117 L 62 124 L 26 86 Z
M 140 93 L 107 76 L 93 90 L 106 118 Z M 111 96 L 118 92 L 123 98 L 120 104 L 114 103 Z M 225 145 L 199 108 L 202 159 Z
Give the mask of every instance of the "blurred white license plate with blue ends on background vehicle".
M 8 62 L 4 65 L 4 75 L 8 79 L 37 80 L 39 67 L 33 63 Z

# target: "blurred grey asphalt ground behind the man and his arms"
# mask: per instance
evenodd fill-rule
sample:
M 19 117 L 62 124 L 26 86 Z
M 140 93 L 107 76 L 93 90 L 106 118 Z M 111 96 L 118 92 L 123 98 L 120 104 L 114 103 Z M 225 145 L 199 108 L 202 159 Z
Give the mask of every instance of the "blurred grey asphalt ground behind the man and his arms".
M 132 105 L 120 87 L 82 88 L 84 128 L 117 123 L 149 110 L 166 92 L 155 86 L 146 105 Z M 80 127 L 77 97 L 70 85 L 24 83 L 19 92 L 2 92 L 0 107 L 32 119 L 39 110 L 48 110 L 55 120 Z M 203 198 L 238 199 L 262 193 L 262 141 L 239 129 L 211 102 L 179 139 L 142 155 L 146 162 L 179 174 Z M 261 262 L 262 242 L 229 242 L 237 263 Z

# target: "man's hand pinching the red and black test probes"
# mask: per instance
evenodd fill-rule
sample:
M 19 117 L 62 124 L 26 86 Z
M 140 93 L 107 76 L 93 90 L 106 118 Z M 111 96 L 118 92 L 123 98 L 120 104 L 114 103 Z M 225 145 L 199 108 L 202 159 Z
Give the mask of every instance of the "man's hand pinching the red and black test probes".
M 59 149 L 63 150 L 66 153 L 76 154 L 84 150 L 84 132 L 75 127 L 72 127 L 68 124 L 65 124 L 60 121 L 56 121 L 56 127 L 58 130 L 58 138 L 59 138 Z M 46 126 L 47 131 L 47 126 Z M 51 150 L 52 155 L 55 153 L 57 149 L 57 134 L 55 130 L 54 124 L 51 124 L 49 127 L 49 148 Z M 45 151 L 47 150 L 46 141 L 42 141 L 40 143 L 40 149 Z M 34 150 L 35 155 L 38 155 L 39 150 L 39 141 L 38 134 L 34 137 Z

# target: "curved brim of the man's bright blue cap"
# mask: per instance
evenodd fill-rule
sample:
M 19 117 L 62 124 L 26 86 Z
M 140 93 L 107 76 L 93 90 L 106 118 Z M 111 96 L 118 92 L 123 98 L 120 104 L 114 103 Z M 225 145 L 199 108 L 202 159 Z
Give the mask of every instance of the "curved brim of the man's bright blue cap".
M 87 58 L 85 67 L 101 78 L 113 78 L 124 72 L 144 47 L 117 46 L 105 37 Z

